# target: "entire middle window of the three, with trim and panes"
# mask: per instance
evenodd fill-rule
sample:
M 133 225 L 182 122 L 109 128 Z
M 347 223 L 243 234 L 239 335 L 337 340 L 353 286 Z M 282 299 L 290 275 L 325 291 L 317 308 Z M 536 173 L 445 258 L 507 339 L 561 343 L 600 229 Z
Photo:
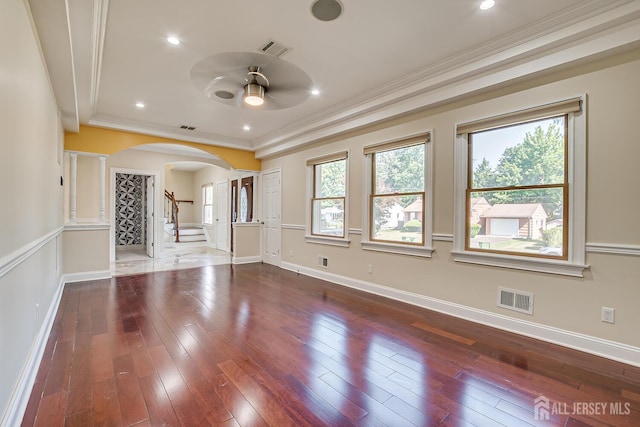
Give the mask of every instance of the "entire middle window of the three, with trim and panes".
M 364 148 L 369 170 L 363 248 L 431 255 L 430 135 Z

